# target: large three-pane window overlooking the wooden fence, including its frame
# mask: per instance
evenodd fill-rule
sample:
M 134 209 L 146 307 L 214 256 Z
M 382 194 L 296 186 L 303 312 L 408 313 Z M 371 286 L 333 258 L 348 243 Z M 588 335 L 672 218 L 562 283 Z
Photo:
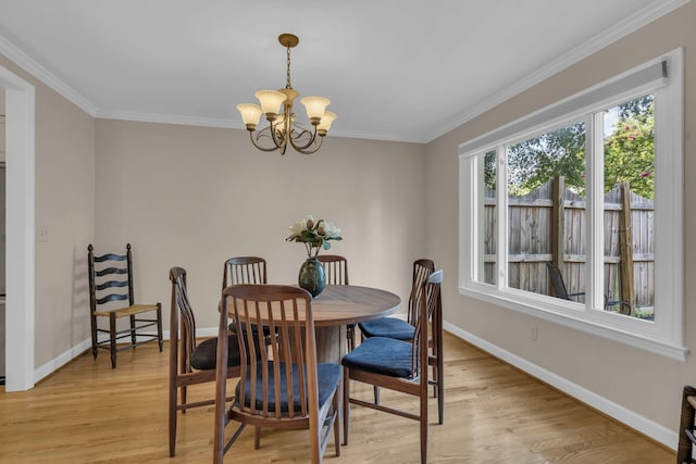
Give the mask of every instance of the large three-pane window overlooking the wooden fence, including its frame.
M 682 55 L 460 146 L 463 294 L 685 359 Z

